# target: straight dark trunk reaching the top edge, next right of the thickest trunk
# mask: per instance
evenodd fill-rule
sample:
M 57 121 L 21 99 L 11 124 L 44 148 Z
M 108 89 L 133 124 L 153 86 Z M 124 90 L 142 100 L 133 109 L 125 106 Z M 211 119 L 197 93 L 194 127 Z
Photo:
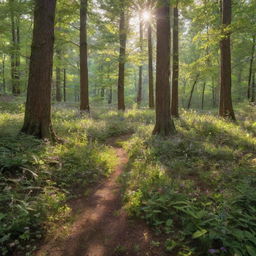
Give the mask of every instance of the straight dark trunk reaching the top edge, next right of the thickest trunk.
M 89 112 L 87 8 L 87 0 L 80 0 L 80 110 Z

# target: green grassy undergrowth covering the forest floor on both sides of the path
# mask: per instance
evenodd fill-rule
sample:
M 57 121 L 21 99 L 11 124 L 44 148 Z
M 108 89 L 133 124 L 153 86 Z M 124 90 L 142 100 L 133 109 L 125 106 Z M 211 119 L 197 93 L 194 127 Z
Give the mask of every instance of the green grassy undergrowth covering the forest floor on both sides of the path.
M 0 104 L 0 254 L 28 254 L 67 222 L 67 200 L 114 169 L 108 138 L 133 133 L 123 143 L 130 156 L 120 180 L 124 204 L 164 234 L 157 246 L 179 256 L 256 255 L 254 107 L 241 105 L 237 123 L 183 110 L 178 133 L 160 138 L 151 136 L 151 110 L 81 117 L 57 105 L 53 125 L 65 143 L 56 145 L 18 135 L 23 112 L 19 102 Z

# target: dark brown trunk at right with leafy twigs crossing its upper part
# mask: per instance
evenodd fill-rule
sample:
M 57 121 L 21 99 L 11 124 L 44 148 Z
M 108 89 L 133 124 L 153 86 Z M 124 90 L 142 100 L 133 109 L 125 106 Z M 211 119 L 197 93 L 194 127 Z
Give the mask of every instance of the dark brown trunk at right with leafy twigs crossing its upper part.
M 231 0 L 222 0 L 222 29 L 224 37 L 220 41 L 221 50 L 221 85 L 219 115 L 235 120 L 235 114 L 231 97 L 231 47 L 230 31 L 231 24 Z

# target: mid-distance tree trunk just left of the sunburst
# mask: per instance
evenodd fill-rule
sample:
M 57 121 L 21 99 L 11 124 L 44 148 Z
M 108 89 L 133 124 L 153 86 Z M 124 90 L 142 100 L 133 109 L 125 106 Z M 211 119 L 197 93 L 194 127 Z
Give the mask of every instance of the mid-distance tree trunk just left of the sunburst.
M 117 84 L 117 100 L 118 110 L 125 110 L 124 102 L 124 75 L 125 75 L 125 62 L 126 62 L 126 39 L 127 29 L 125 20 L 125 10 L 122 7 L 120 13 L 119 22 L 119 40 L 120 40 L 120 52 L 119 52 L 119 70 L 118 70 L 118 84 Z

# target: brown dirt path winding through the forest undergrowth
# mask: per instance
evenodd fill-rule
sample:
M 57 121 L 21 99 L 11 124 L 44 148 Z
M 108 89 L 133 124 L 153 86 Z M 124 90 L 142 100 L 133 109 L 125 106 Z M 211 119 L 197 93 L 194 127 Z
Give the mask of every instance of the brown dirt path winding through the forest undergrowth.
M 126 137 L 119 137 L 124 140 Z M 36 256 L 157 256 L 164 255 L 152 247 L 147 226 L 131 220 L 122 209 L 120 186 L 117 178 L 124 171 L 128 157 L 116 144 L 117 138 L 108 141 L 119 158 L 112 175 L 86 200 L 78 199 L 71 207 L 76 214 L 65 239 L 52 239 Z

